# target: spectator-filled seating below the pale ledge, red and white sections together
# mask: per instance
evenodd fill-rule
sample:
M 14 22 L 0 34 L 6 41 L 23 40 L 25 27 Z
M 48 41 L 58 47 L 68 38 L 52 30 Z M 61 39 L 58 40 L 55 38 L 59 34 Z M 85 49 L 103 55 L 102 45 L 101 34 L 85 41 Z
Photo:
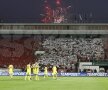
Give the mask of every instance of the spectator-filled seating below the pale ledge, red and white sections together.
M 5 35 L 5 38 L 1 36 L 0 66 L 7 67 L 13 64 L 15 68 L 24 68 L 28 63 L 38 60 L 41 70 L 47 65 L 50 71 L 56 64 L 61 72 L 74 72 L 79 61 L 105 59 L 103 38 L 88 36 Z M 45 51 L 45 54 L 34 55 L 34 52 L 39 50 Z

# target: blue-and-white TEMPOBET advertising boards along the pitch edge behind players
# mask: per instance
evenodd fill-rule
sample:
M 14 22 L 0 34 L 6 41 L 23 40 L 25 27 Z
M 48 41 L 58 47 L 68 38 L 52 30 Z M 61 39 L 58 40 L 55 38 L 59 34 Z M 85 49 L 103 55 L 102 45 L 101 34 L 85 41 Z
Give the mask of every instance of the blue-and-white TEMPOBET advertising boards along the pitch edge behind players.
M 0 72 L 0 76 L 8 76 L 8 72 Z M 14 76 L 25 76 L 26 72 L 14 72 Z M 33 75 L 33 74 L 32 74 Z M 43 72 L 39 73 L 39 76 L 44 76 Z M 48 76 L 52 76 L 52 73 L 48 73 Z M 58 73 L 58 76 L 63 77 L 107 77 L 108 73 Z

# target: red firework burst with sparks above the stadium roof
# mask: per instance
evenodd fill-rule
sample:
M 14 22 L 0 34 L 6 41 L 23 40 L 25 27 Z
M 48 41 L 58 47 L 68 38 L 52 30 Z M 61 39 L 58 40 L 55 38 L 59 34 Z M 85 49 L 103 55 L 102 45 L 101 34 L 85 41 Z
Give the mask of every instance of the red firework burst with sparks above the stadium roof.
M 51 7 L 48 0 L 45 0 L 43 23 L 64 23 L 66 22 L 67 9 L 62 6 L 61 0 L 55 1 L 55 8 Z

